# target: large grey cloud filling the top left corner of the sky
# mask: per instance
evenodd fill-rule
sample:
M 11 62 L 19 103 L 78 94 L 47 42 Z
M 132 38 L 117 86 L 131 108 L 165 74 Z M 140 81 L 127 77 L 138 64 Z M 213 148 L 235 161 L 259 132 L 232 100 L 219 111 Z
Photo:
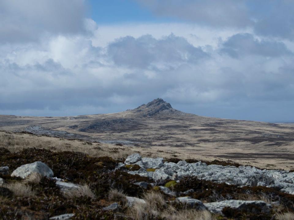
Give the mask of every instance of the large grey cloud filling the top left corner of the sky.
M 44 35 L 88 32 L 83 0 L 3 0 L 0 2 L 0 42 L 39 40 Z

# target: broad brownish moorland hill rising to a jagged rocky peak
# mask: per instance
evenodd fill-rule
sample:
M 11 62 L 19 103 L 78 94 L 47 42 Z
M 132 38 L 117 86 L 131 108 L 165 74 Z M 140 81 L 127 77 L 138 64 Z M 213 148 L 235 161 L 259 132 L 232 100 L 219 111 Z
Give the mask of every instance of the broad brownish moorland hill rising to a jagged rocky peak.
M 294 124 L 187 114 L 163 99 L 119 113 L 74 117 L 0 116 L 0 129 L 121 143 L 173 155 L 250 160 L 294 159 Z

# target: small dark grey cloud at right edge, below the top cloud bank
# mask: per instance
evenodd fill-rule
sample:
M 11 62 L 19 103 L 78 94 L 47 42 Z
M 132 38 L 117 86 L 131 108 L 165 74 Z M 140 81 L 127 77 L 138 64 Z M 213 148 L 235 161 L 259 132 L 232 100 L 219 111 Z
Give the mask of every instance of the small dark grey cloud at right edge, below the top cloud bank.
M 279 57 L 293 54 L 282 42 L 258 40 L 249 33 L 240 33 L 231 36 L 222 43 L 220 52 L 226 53 L 233 58 L 239 58 L 242 55 Z

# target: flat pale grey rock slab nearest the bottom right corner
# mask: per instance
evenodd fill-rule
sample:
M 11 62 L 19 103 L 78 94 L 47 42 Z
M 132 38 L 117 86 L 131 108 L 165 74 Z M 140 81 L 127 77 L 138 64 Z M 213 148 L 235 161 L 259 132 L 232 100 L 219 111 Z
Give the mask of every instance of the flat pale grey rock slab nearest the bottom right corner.
M 246 200 L 224 200 L 220 202 L 213 202 L 213 203 L 204 203 L 204 206 L 207 210 L 216 213 L 222 214 L 222 210 L 224 207 L 236 208 L 243 211 L 251 211 L 250 209 L 247 210 L 248 205 L 254 205 L 261 208 L 262 212 L 268 213 L 272 206 L 270 204 L 265 203 L 264 201 L 246 201 Z M 248 206 L 249 207 L 249 206 Z

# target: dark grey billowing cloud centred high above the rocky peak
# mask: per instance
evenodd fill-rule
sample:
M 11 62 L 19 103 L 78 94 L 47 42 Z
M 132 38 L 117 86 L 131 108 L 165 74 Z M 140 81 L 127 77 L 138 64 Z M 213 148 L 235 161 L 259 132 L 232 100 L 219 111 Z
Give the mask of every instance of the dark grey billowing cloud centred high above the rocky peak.
M 209 56 L 200 47 L 194 47 L 185 38 L 174 34 L 159 40 L 151 35 L 137 39 L 126 36 L 111 43 L 107 52 L 115 64 L 137 68 L 147 68 L 156 63 L 195 63 Z

